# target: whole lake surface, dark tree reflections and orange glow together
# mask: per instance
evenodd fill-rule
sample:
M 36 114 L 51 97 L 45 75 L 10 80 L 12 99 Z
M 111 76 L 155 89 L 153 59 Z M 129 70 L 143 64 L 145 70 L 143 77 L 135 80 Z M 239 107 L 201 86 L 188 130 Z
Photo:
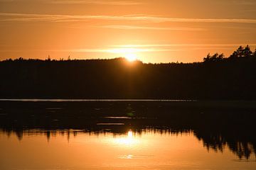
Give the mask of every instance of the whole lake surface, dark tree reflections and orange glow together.
M 256 169 L 255 107 L 0 101 L 0 169 Z

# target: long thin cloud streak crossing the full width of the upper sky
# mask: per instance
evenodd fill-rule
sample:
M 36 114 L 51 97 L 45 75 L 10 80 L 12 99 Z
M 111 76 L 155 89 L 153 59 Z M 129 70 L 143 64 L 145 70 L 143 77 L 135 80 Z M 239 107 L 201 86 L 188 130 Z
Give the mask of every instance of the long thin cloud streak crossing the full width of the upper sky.
M 143 21 L 149 23 L 181 22 L 181 23 L 256 23 L 256 19 L 237 18 L 167 18 L 160 16 L 90 16 L 90 15 L 50 15 L 33 13 L 0 13 L 0 21 L 51 21 L 78 22 L 88 20 L 106 21 Z

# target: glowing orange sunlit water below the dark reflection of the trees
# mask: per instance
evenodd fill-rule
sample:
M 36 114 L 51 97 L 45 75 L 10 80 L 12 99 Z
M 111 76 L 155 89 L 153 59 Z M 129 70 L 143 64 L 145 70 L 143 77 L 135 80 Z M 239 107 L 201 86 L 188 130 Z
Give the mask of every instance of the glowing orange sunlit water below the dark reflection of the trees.
M 203 147 L 193 132 L 132 130 L 123 135 L 75 130 L 0 133 L 1 169 L 255 169 L 255 155 L 238 159 Z

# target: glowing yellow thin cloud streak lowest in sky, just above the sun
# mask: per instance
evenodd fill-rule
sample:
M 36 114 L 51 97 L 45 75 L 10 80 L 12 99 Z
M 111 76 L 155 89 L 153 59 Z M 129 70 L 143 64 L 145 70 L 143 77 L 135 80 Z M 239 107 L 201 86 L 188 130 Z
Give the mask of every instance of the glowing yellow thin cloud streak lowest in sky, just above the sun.
M 111 53 L 117 55 L 145 52 L 182 52 L 188 50 L 235 50 L 240 44 L 146 44 L 146 45 L 109 45 L 105 47 L 84 47 L 73 49 L 30 49 L 36 52 L 85 52 L 85 53 Z M 255 47 L 256 44 L 250 44 Z M 23 52 L 24 50 L 0 49 L 0 52 Z

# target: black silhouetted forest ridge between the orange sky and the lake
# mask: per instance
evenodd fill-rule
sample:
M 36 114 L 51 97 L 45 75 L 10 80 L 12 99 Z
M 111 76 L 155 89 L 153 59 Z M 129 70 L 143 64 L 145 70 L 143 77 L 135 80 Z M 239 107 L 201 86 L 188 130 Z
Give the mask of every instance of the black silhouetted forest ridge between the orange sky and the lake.
M 10 59 L 0 62 L 0 98 L 253 100 L 255 66 L 248 45 L 195 63 Z

